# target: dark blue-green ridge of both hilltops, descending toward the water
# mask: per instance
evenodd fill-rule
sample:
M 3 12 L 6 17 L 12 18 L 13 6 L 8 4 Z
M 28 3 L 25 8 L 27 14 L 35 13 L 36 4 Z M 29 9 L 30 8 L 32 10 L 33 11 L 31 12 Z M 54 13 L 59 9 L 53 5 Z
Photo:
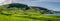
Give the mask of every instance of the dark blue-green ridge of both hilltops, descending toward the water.
M 58 11 L 49 10 L 47 8 L 38 7 L 38 6 L 28 6 L 28 5 L 20 4 L 20 3 L 11 3 L 11 4 L 7 4 L 7 6 L 8 6 L 7 8 L 16 7 L 16 8 L 23 8 L 23 9 L 26 9 L 26 10 L 29 10 L 29 9 L 32 8 L 35 11 L 39 11 L 42 14 L 54 14 L 54 13 L 58 13 Z

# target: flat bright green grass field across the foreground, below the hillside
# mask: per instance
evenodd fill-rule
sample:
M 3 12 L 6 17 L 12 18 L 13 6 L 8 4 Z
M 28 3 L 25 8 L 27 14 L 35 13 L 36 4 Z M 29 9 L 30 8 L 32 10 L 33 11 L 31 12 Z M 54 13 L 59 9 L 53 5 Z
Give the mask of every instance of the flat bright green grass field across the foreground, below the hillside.
M 13 14 L 8 16 L 0 14 L 0 21 L 60 21 L 60 18 L 36 14 Z

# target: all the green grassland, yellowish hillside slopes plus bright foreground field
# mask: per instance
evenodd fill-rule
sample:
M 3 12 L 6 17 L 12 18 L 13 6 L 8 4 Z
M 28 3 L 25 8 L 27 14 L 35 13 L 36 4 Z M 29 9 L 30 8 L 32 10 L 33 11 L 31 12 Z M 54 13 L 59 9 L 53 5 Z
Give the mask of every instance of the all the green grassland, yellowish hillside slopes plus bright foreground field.
M 60 16 L 44 16 L 33 9 L 23 11 L 17 8 L 0 7 L 0 21 L 60 21 Z

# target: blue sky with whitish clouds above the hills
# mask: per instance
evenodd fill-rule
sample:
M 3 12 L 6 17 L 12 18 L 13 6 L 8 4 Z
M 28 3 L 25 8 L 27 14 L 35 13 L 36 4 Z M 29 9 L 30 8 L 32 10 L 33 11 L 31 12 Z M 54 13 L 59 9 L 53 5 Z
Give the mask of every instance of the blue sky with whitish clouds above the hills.
M 11 3 L 11 0 L 0 0 L 0 3 Z M 40 6 L 54 11 L 60 11 L 60 0 L 14 0 L 13 3 L 23 3 L 29 6 Z

